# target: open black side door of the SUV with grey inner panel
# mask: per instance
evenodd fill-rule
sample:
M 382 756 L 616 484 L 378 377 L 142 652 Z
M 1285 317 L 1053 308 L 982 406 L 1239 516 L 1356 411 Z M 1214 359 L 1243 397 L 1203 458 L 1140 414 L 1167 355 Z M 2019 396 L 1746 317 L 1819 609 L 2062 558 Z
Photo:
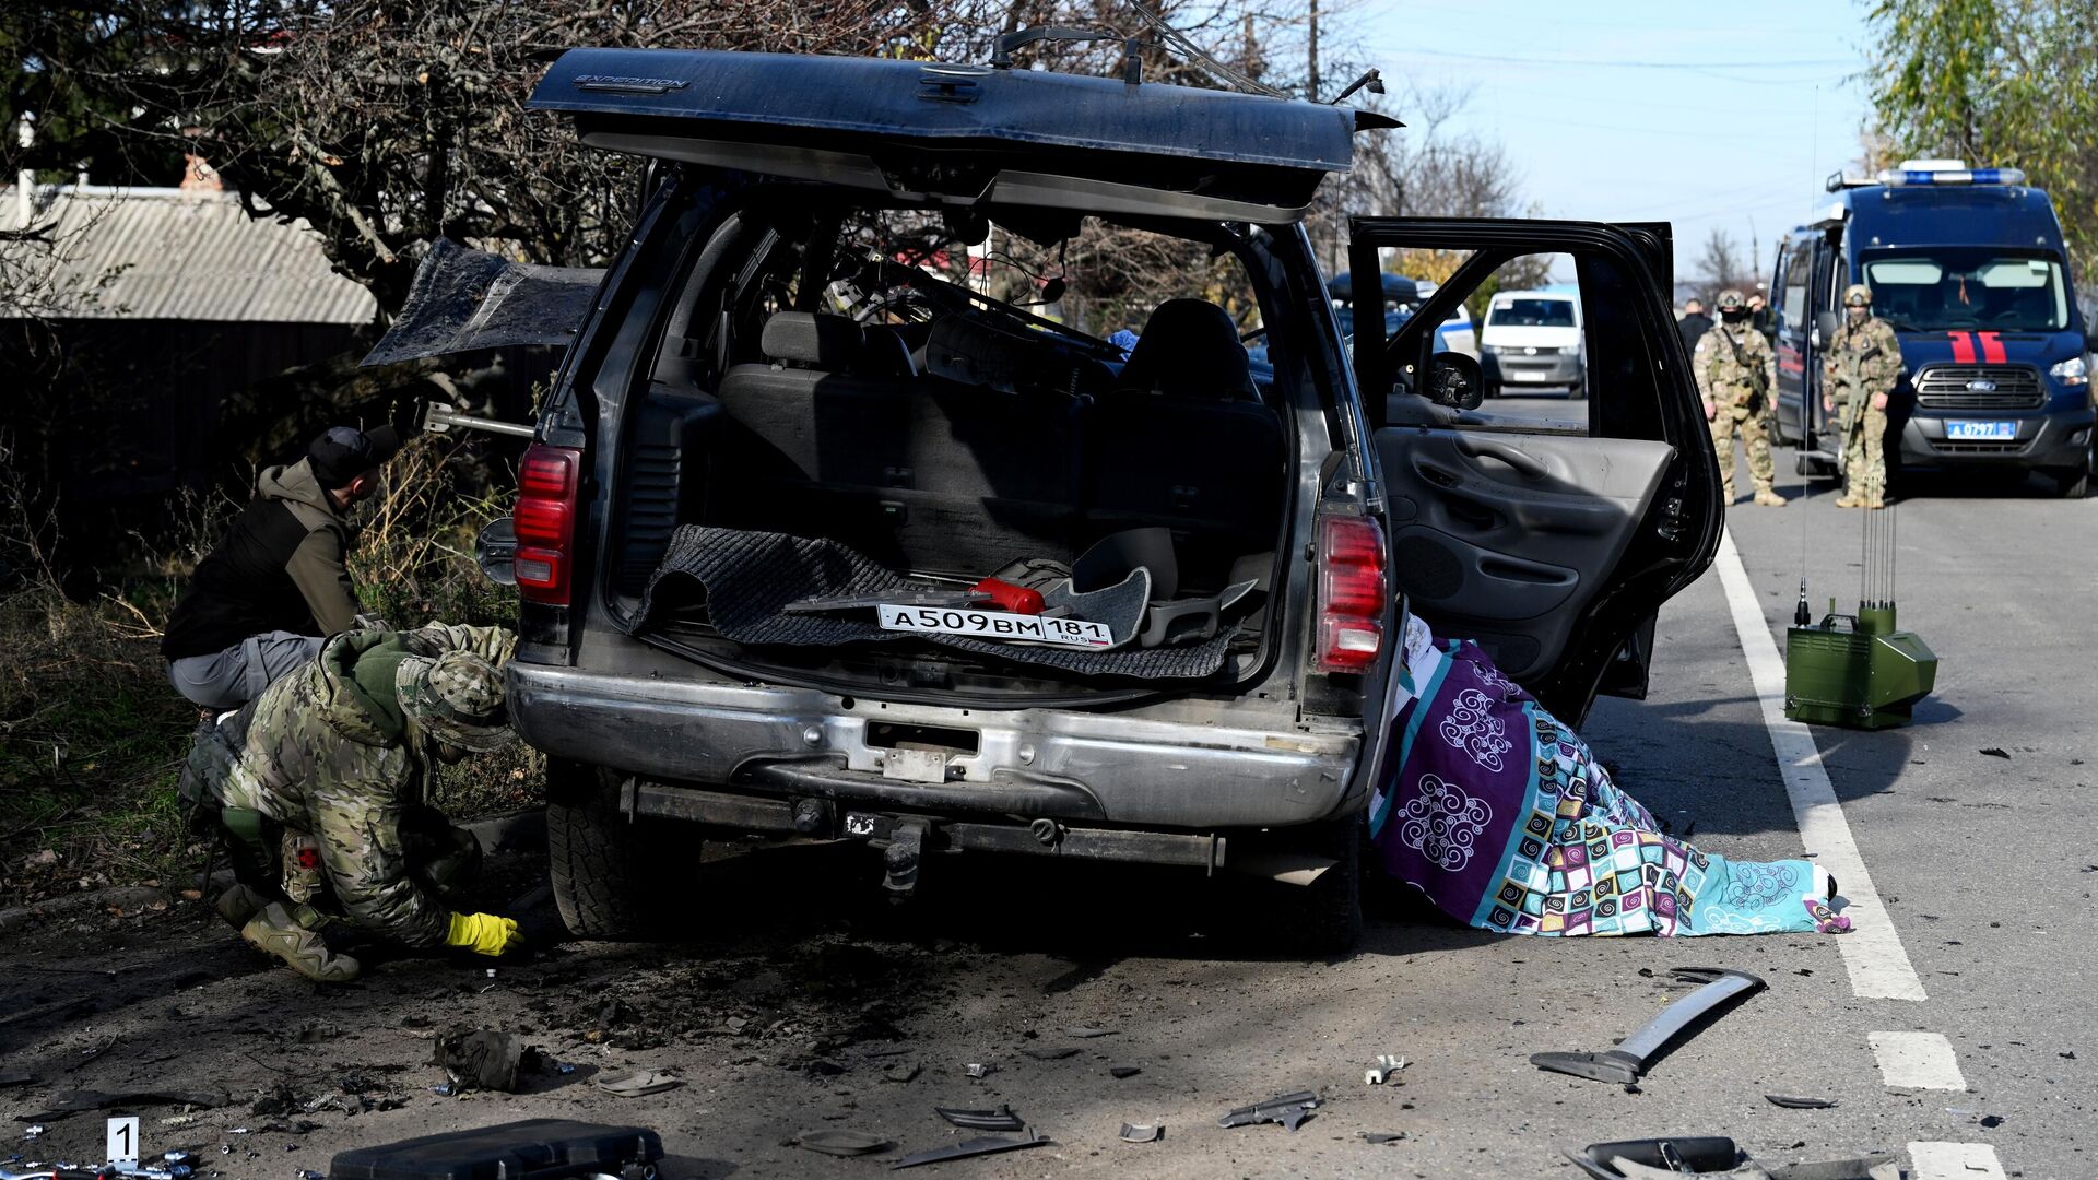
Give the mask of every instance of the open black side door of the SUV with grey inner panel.
M 1712 435 L 1668 304 L 1668 227 L 1513 218 L 1355 218 L 1353 273 L 1458 260 L 1387 336 L 1355 319 L 1355 376 L 1374 424 L 1391 569 L 1443 638 L 1477 640 L 1513 680 L 1580 722 L 1597 691 L 1645 695 L 1653 617 L 1718 550 Z M 1427 386 L 1433 328 L 1511 275 L 1574 273 L 1580 353 L 1569 420 L 1456 412 Z M 1492 283 L 1492 286 L 1487 286 Z M 1553 283 L 1563 290 L 1565 283 Z M 1496 300 L 1498 307 L 1498 300 Z M 1540 349 L 1481 359 L 1511 382 Z M 1544 349 L 1557 353 L 1557 349 Z M 1540 365 L 1527 370 L 1548 376 Z M 1586 418 L 1582 422 L 1580 418 Z

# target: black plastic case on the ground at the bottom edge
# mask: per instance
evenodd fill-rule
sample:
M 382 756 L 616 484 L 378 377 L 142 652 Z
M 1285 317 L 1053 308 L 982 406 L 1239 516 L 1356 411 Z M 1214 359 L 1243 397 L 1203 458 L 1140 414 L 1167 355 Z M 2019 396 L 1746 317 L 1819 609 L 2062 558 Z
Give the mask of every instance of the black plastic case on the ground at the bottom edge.
M 329 1180 L 552 1180 L 663 1159 L 663 1138 L 642 1128 L 524 1119 L 336 1153 Z

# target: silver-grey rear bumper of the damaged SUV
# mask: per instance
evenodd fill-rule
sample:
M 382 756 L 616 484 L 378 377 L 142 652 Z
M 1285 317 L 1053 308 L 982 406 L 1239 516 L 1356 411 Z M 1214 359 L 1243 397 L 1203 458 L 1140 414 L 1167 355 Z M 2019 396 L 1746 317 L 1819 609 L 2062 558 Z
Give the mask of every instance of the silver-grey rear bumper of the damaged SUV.
M 1360 802 L 1357 733 L 950 710 L 520 661 L 510 718 L 552 756 L 665 789 L 1181 831 L 1315 823 Z M 879 722 L 967 731 L 978 747 L 948 756 L 942 783 L 890 777 L 896 750 L 869 743 Z

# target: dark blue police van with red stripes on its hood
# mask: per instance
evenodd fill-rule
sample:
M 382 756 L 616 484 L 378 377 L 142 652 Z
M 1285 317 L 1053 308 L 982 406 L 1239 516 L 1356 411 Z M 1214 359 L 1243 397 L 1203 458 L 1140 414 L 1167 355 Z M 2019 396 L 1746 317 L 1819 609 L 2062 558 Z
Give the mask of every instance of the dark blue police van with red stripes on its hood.
M 2092 475 L 2092 338 L 2048 193 L 2016 168 L 1909 160 L 1876 178 L 1829 176 L 1834 199 L 1785 235 L 1771 277 L 1777 437 L 1836 468 L 1819 340 L 1842 290 L 1901 336 L 1888 470 L 2041 470 L 2064 496 Z

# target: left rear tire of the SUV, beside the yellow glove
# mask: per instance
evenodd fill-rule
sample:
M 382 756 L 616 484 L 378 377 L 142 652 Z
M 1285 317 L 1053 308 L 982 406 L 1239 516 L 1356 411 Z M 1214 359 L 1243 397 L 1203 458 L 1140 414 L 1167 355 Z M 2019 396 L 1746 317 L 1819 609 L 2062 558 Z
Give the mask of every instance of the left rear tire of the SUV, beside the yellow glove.
M 579 939 L 631 939 L 655 928 L 663 892 L 663 836 L 619 810 L 619 777 L 581 762 L 548 760 L 545 850 L 554 905 Z M 680 863 L 694 863 L 680 848 Z

